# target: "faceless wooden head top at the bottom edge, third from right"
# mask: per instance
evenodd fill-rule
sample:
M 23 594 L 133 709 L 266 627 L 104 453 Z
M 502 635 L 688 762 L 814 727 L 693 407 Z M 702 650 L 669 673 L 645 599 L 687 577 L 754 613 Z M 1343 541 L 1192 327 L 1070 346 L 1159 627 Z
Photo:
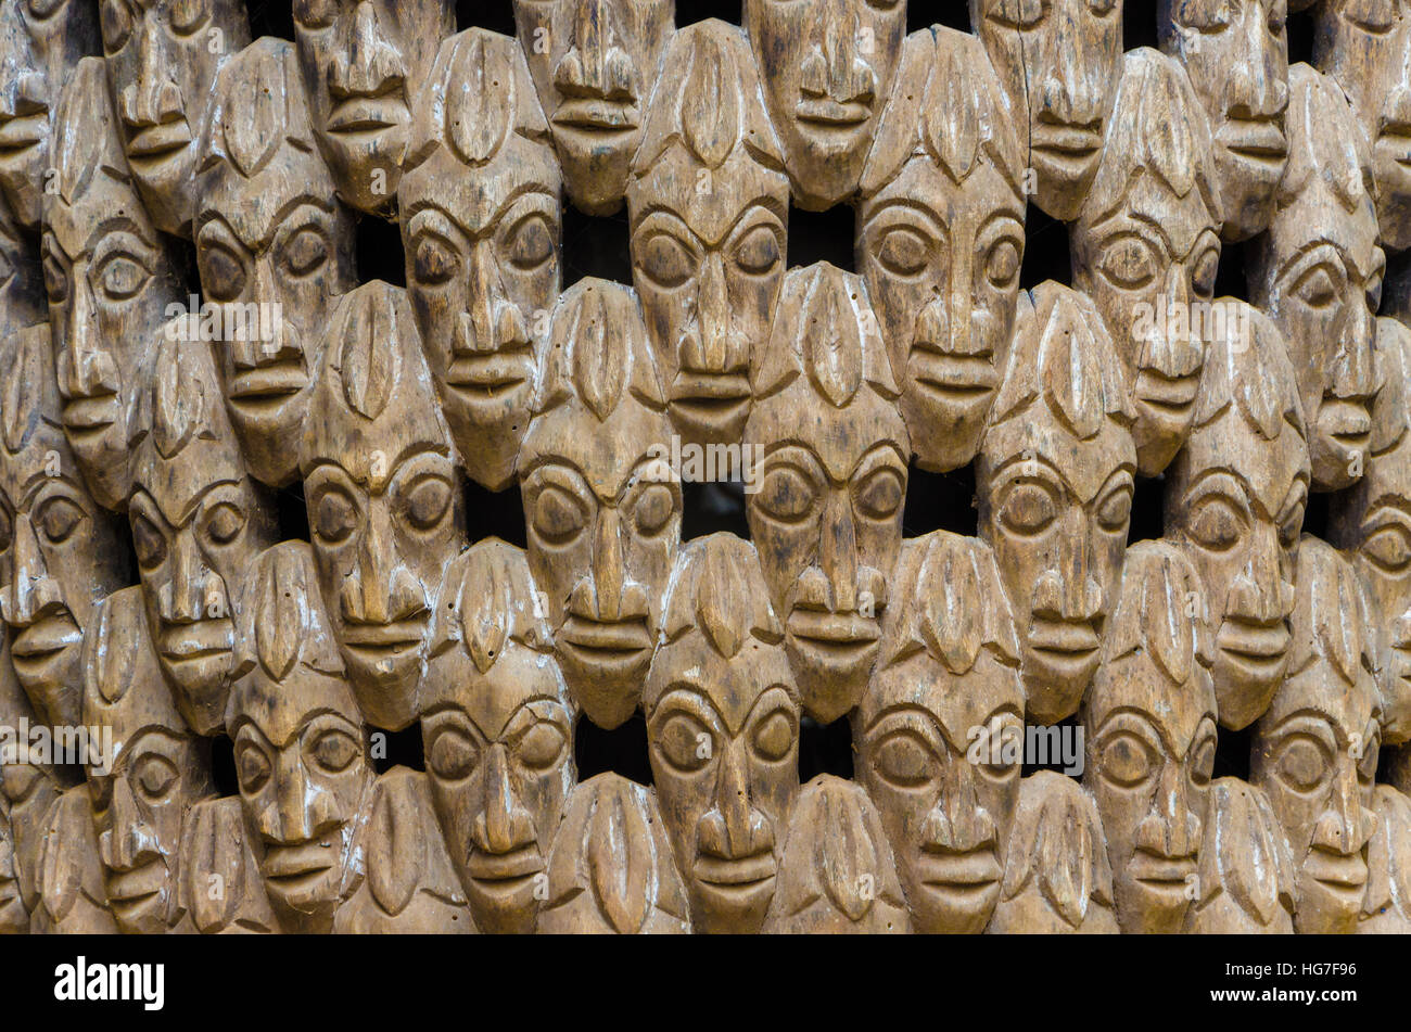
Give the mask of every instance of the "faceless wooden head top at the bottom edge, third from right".
M 1050 770 L 1023 778 L 992 935 L 1116 935 L 1098 808 Z

